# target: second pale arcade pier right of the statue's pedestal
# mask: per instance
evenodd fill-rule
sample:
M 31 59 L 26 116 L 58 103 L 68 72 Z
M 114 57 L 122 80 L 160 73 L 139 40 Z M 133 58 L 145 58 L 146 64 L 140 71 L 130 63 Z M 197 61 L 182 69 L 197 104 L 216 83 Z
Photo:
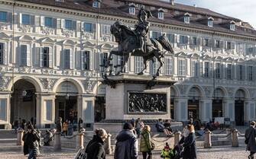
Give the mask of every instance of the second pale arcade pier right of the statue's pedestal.
M 212 119 L 212 100 L 203 99 L 199 102 L 199 118 L 202 122 L 209 122 Z

